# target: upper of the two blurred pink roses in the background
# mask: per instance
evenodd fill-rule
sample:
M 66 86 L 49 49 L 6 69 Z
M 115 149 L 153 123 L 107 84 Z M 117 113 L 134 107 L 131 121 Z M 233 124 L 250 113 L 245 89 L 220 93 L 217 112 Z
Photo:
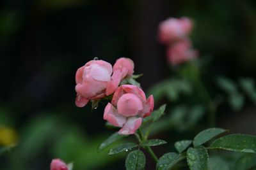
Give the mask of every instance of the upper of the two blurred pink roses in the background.
M 188 36 L 193 23 L 187 17 L 168 18 L 159 24 L 159 41 L 161 43 L 172 43 Z

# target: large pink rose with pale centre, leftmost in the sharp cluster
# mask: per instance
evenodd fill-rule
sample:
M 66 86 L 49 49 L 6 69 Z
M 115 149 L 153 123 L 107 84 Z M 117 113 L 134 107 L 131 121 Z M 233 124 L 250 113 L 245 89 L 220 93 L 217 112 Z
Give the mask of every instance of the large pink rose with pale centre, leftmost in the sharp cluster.
M 104 60 L 90 60 L 76 72 L 76 106 L 83 107 L 91 99 L 101 99 L 113 94 L 118 87 L 122 73 L 112 74 L 112 66 Z

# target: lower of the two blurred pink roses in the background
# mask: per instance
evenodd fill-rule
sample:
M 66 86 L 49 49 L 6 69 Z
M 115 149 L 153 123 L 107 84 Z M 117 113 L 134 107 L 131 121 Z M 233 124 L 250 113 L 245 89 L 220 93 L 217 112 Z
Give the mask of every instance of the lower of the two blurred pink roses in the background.
M 170 64 L 177 65 L 198 57 L 198 52 L 194 50 L 188 39 L 182 39 L 168 47 L 167 57 Z

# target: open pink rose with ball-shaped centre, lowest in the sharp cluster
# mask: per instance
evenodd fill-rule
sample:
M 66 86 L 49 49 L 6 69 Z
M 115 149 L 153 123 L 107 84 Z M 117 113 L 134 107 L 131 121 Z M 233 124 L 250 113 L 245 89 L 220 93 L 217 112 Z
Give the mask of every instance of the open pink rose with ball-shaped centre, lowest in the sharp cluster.
M 104 120 L 116 127 L 122 127 L 119 134 L 134 134 L 142 119 L 154 109 L 154 98 L 146 99 L 145 93 L 134 85 L 122 85 L 116 89 L 111 103 L 104 110 Z

